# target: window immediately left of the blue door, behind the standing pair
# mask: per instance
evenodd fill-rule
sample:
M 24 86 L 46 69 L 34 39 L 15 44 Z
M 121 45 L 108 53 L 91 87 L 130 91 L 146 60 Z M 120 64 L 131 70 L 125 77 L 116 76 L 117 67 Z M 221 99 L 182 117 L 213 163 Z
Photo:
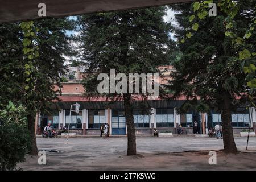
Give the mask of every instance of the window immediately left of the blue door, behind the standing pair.
M 89 110 L 88 120 L 89 129 L 99 129 L 100 125 L 105 123 L 105 110 Z

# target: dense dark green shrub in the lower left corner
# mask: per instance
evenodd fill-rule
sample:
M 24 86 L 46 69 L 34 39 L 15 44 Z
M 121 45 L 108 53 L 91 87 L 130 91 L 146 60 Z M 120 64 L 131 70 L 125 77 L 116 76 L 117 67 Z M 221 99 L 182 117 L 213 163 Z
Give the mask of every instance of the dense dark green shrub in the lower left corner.
M 24 114 L 12 102 L 0 110 L 0 170 L 13 170 L 25 159 L 30 140 Z

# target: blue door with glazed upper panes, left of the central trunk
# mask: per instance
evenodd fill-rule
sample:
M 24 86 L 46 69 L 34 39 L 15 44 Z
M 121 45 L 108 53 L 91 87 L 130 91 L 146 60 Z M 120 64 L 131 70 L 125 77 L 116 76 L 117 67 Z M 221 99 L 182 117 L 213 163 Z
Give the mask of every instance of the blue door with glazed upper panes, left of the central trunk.
M 112 109 L 112 135 L 126 134 L 125 111 Z

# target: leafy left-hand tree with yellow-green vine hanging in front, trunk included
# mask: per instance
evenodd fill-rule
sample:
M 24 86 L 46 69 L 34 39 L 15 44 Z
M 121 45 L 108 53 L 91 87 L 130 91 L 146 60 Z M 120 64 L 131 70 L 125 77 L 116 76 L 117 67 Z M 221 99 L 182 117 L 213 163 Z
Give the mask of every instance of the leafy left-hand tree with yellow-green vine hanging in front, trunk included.
M 23 35 L 20 27 L 24 30 Z M 70 20 L 55 18 L 0 25 L 0 71 L 5 75 L 0 78 L 1 93 L 4 93 L 1 105 L 11 100 L 26 107 L 32 155 L 38 153 L 35 115 L 47 110 L 51 101 L 57 98 L 53 84 L 60 84 L 60 75 L 64 75 L 63 55 L 73 55 L 72 38 L 65 34 L 72 29 Z

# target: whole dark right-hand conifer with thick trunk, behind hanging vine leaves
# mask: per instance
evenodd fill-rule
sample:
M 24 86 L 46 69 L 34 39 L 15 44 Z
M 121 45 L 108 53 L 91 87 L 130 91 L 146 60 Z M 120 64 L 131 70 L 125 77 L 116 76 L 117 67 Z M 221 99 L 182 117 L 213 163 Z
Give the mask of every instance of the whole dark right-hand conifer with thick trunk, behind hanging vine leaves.
M 253 14 L 253 1 L 238 1 L 240 9 L 234 17 L 233 26 L 237 35 L 242 36 L 249 27 Z M 179 11 L 176 14 L 180 27 L 176 27 L 177 38 L 183 39 L 192 31 L 189 19 L 193 15 L 191 4 L 171 6 Z M 233 48 L 228 36 L 225 36 L 225 13 L 218 10 L 217 17 L 205 16 L 197 21 L 198 30 L 191 38 L 180 41 L 180 51 L 183 53 L 180 61 L 174 66 L 170 89 L 174 90 L 174 97 L 185 94 L 187 98 L 200 97 L 199 109 L 207 109 L 207 105 L 220 111 L 223 134 L 224 151 L 237 152 L 234 142 L 231 113 L 238 106 L 244 104 L 243 93 L 247 92 L 245 73 L 242 61 L 238 59 L 238 52 Z M 255 35 L 253 35 L 255 36 Z M 254 38 L 255 39 L 255 38 Z M 255 42 L 248 43 L 247 48 L 253 50 Z M 237 99 L 241 97 L 241 99 Z M 245 98 L 246 100 L 246 98 Z M 191 107 L 198 103 L 192 101 Z M 188 102 L 183 106 L 187 107 Z M 206 106 L 205 106 L 206 105 Z M 188 107 L 187 107 L 188 109 Z M 184 109 L 183 111 L 187 110 Z

